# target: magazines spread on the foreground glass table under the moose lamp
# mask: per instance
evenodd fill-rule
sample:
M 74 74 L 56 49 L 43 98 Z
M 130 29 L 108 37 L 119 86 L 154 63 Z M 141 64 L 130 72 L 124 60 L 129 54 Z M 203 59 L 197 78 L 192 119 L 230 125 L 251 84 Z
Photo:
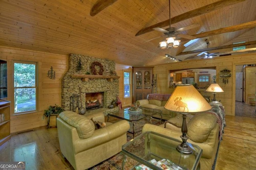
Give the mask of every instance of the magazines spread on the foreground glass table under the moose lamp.
M 162 159 L 159 161 L 152 159 L 149 162 L 151 162 L 152 164 L 154 164 L 155 166 L 158 166 L 159 168 L 161 168 L 163 170 L 188 170 L 187 168 L 179 166 L 168 159 Z M 152 170 L 151 168 L 148 168 L 144 164 L 140 164 L 139 166 L 136 166 L 135 168 L 136 168 L 136 170 Z

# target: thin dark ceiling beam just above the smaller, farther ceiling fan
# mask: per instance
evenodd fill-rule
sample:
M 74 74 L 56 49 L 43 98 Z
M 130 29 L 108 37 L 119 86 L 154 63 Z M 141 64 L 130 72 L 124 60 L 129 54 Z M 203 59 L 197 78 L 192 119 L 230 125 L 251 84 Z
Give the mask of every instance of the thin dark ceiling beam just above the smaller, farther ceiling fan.
M 216 50 L 216 49 L 225 49 L 225 48 L 240 47 L 240 46 L 243 46 L 243 45 L 254 45 L 254 44 L 256 44 L 256 41 L 244 42 L 244 43 L 236 43 L 236 44 L 230 44 L 230 45 L 223 45 L 223 46 L 219 46 L 219 47 L 211 47 L 211 48 L 204 48 L 204 49 L 196 49 L 196 50 L 193 50 L 193 51 L 186 51 L 186 52 L 178 53 L 176 56 L 178 56 L 178 55 L 192 54 L 192 53 L 200 53 L 200 52 L 204 52 L 204 51 L 212 51 L 212 50 Z

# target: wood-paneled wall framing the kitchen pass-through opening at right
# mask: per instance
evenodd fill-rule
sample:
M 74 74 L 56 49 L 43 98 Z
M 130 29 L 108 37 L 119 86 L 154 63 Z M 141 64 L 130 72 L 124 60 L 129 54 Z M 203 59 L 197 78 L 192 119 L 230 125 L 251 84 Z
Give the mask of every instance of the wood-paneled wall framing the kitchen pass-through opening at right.
M 182 61 L 172 64 L 163 64 L 163 65 L 154 65 L 154 74 L 157 74 L 158 77 L 166 77 L 168 70 L 176 69 L 193 69 L 200 67 L 216 67 L 216 82 L 224 90 L 223 93 L 218 94 L 216 99 L 221 100 L 222 104 L 225 106 L 226 115 L 234 116 L 234 105 L 235 105 L 235 94 L 234 94 L 234 82 L 235 79 L 235 65 L 241 65 L 242 63 L 254 63 L 256 61 L 255 53 L 234 55 L 234 56 L 225 56 L 225 57 L 216 57 L 211 60 L 191 60 L 191 61 Z M 231 70 L 232 76 L 228 79 L 228 83 L 222 83 L 222 78 L 219 77 L 220 71 L 222 69 Z M 159 93 L 172 93 L 173 89 L 169 89 L 168 79 L 158 79 L 158 92 Z

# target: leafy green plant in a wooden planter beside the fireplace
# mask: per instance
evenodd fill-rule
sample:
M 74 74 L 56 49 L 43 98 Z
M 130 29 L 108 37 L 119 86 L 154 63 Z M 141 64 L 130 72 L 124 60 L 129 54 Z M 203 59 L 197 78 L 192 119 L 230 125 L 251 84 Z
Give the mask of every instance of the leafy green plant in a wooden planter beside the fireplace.
M 60 106 L 49 106 L 48 110 L 44 110 L 44 115 L 48 117 L 48 128 L 49 127 L 56 127 L 56 118 L 58 115 L 64 111 Z

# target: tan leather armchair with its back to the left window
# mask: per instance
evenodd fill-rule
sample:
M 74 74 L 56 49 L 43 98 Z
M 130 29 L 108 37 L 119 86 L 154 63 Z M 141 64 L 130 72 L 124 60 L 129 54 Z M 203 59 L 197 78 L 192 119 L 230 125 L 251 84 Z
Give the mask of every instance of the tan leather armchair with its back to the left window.
M 78 115 L 64 111 L 57 118 L 60 150 L 76 170 L 88 169 L 122 150 L 126 143 L 127 121 L 106 122 L 106 127 L 95 129 L 90 120 L 104 122 L 102 113 Z

